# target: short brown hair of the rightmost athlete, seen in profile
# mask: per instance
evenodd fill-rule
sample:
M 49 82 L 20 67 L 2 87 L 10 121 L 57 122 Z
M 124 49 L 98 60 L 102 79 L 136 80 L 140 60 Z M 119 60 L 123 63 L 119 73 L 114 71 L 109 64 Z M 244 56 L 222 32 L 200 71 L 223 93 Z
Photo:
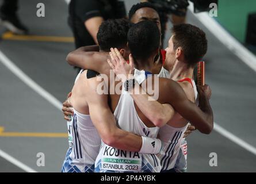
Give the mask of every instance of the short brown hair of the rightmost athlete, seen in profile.
M 174 49 L 181 47 L 186 62 L 190 67 L 195 66 L 207 52 L 205 33 L 191 24 L 174 25 L 171 32 L 173 33 Z

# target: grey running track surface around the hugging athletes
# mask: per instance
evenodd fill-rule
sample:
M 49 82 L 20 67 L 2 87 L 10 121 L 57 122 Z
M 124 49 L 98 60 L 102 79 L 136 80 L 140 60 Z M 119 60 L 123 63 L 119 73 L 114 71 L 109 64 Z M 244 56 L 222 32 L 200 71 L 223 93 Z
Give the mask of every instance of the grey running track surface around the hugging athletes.
M 71 37 L 67 26 L 67 3 L 61 0 L 40 2 L 45 5 L 44 18 L 36 16 L 38 2 L 20 1 L 20 18 L 29 27 L 30 34 Z M 125 1 L 127 9 L 135 2 Z M 188 13 L 188 22 L 207 33 L 206 81 L 213 90 L 211 104 L 215 122 L 256 147 L 255 72 L 224 47 L 191 13 Z M 0 28 L 0 32 L 4 33 L 5 29 Z M 66 98 L 75 78 L 75 71 L 65 61 L 67 53 L 73 49 L 73 43 L 17 40 L 0 43 L 0 51 L 60 102 Z M 0 127 L 4 127 L 5 132 L 66 132 L 62 112 L 17 78 L 2 62 L 0 99 Z M 207 136 L 194 132 L 188 138 L 188 144 L 190 172 L 256 171 L 256 156 L 216 131 Z M 2 137 L 0 133 L 0 150 L 39 172 L 59 172 L 67 147 L 64 137 Z M 36 164 L 39 152 L 45 155 L 44 167 Z M 209 166 L 211 152 L 218 156 L 217 167 Z M 1 157 L 0 163 L 0 172 L 24 172 Z

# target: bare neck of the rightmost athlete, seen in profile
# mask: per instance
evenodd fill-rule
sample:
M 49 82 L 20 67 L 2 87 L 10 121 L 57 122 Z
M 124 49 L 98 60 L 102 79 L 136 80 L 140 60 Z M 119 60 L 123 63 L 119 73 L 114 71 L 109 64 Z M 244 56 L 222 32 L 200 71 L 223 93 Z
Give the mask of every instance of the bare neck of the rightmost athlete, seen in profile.
M 184 78 L 192 79 L 193 71 L 193 67 L 188 67 L 188 64 L 186 64 L 185 62 L 176 60 L 173 65 L 173 68 L 171 68 L 169 72 L 171 79 L 173 79 L 173 81 L 179 81 Z

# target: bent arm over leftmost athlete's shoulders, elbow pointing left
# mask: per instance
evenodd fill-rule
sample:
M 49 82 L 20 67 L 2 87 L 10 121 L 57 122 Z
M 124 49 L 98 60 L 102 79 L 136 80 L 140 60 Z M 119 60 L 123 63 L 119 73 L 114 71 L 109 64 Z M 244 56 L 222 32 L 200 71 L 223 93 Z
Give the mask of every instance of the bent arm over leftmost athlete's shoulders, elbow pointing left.
M 107 52 L 98 52 L 99 47 L 86 46 L 68 53 L 67 62 L 71 66 L 97 71 L 100 74 L 108 74 L 110 67 L 106 62 L 109 59 Z

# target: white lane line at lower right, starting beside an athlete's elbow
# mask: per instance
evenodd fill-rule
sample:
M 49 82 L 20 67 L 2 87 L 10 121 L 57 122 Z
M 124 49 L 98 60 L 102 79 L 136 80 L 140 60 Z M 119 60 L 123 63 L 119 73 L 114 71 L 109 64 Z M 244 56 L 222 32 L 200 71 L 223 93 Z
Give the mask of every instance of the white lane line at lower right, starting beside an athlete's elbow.
M 246 143 L 246 141 L 240 139 L 239 137 L 235 136 L 234 134 L 228 132 L 226 129 L 220 127 L 220 125 L 214 123 L 214 130 L 220 135 L 226 137 L 227 139 L 233 141 L 234 143 L 240 145 L 240 147 L 244 148 L 245 150 L 251 152 L 252 154 L 256 155 L 256 148 L 253 145 Z

